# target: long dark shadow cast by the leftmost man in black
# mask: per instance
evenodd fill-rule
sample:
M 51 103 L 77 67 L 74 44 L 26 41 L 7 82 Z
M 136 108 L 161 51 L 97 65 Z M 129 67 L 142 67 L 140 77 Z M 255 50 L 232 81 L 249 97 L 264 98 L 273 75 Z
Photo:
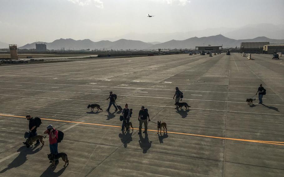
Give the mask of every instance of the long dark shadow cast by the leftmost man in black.
M 17 168 L 21 165 L 23 165 L 28 159 L 28 154 L 35 154 L 38 151 L 42 149 L 42 147 L 39 147 L 36 149 L 37 146 L 33 146 L 32 148 L 27 148 L 26 145 L 21 146 L 17 152 L 20 152 L 19 155 L 3 170 L 0 171 L 0 173 L 4 173 L 7 170 L 10 170 L 12 168 Z

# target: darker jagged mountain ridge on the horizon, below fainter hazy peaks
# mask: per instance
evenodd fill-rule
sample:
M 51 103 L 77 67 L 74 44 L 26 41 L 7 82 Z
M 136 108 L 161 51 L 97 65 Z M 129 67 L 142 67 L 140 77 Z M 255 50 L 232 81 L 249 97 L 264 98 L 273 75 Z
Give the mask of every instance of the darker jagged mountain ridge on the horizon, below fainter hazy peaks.
M 89 39 L 84 40 L 74 40 L 74 39 L 58 39 L 47 44 L 47 49 L 55 49 L 59 50 L 61 48 L 65 48 L 65 50 L 79 50 L 79 49 L 105 49 L 105 50 L 120 50 L 120 49 L 159 49 L 159 48 L 166 48 L 166 49 L 174 49 L 174 48 L 195 48 L 195 46 L 200 45 L 223 45 L 223 48 L 228 47 L 239 47 L 241 42 L 270 42 L 274 44 L 283 44 L 284 39 L 269 39 L 265 36 L 256 37 L 253 39 L 242 39 L 242 40 L 235 40 L 225 37 L 223 35 L 216 35 L 216 36 L 208 36 L 208 37 L 192 37 L 185 40 L 170 40 L 163 43 L 146 43 L 143 41 L 135 41 L 135 40 L 126 40 L 120 39 L 117 41 L 98 41 L 93 42 Z M 36 48 L 36 43 L 44 43 L 44 42 L 33 42 L 31 44 L 26 44 L 19 49 L 34 49 Z

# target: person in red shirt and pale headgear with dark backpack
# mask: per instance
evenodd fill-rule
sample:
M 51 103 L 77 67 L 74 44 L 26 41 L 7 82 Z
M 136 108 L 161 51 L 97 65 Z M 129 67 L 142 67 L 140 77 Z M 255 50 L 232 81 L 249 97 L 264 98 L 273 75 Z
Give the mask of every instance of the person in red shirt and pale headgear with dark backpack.
M 47 130 L 44 132 L 44 134 L 49 135 L 49 149 L 51 154 L 58 154 L 58 131 L 55 130 L 52 125 L 47 126 Z M 55 165 L 59 163 L 59 160 L 55 161 Z

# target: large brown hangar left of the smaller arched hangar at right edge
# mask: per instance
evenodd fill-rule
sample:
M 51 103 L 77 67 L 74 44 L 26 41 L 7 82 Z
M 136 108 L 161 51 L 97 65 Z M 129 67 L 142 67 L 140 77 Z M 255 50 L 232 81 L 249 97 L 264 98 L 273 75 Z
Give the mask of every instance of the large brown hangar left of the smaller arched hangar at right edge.
M 262 48 L 264 45 L 269 45 L 269 42 L 242 42 L 241 43 L 241 53 L 262 53 Z

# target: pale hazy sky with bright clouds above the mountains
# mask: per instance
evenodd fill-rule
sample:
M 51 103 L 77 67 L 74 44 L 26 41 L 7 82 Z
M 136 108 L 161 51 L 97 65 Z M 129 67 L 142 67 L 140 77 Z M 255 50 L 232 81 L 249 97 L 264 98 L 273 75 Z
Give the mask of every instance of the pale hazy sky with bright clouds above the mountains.
M 284 0 L 0 0 L 0 41 L 98 41 L 130 32 L 277 25 L 283 10 Z

